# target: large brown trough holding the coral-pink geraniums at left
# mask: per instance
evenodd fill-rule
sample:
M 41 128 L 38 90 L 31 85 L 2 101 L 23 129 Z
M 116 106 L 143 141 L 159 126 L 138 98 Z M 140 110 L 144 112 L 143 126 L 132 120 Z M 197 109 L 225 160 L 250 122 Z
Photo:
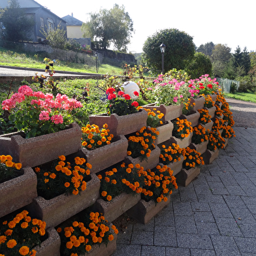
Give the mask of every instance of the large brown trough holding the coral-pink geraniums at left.
M 0 136 L 0 152 L 12 155 L 14 162 L 23 167 L 36 167 L 57 159 L 59 155 L 70 155 L 81 148 L 82 130 L 77 123 L 68 129 L 41 135 L 34 138 L 23 138 L 20 133 Z

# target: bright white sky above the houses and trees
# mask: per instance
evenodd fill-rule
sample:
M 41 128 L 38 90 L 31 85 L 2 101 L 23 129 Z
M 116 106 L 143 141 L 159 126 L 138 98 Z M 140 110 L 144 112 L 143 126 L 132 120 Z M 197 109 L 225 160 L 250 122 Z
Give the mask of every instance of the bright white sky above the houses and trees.
M 162 29 L 178 29 L 191 37 L 197 47 L 213 42 L 227 44 L 233 53 L 237 46 L 248 52 L 256 51 L 255 0 L 36 0 L 59 17 L 73 14 L 74 18 L 87 22 L 90 12 L 110 10 L 114 4 L 125 7 L 133 20 L 129 52 L 140 53 L 146 39 Z M 168 44 L 163 42 L 164 44 Z M 160 50 L 159 50 L 160 51 Z

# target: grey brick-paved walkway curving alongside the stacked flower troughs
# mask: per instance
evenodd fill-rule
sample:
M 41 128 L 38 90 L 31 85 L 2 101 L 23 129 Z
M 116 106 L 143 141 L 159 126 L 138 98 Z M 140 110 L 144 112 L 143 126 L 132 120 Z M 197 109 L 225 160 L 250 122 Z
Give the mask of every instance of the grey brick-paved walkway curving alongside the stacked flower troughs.
M 120 232 L 112 256 L 256 255 L 256 129 L 234 131 L 217 159 L 150 223 Z

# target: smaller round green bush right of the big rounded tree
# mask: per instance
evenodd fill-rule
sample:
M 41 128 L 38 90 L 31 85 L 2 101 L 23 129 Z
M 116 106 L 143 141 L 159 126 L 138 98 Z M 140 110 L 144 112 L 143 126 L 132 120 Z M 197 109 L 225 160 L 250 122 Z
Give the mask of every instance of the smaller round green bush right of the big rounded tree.
M 212 62 L 209 57 L 196 52 L 193 60 L 185 67 L 191 79 L 199 78 L 202 74 L 212 74 Z

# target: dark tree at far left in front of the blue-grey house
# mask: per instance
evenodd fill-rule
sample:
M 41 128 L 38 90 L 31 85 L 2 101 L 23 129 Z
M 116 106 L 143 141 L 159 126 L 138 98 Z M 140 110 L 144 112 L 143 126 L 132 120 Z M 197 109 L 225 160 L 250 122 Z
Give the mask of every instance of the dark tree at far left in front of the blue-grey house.
M 12 42 L 29 39 L 29 32 L 34 26 L 33 19 L 27 18 L 25 11 L 20 8 L 18 0 L 8 2 L 8 8 L 1 11 L 0 22 L 5 27 L 2 31 L 3 39 Z

